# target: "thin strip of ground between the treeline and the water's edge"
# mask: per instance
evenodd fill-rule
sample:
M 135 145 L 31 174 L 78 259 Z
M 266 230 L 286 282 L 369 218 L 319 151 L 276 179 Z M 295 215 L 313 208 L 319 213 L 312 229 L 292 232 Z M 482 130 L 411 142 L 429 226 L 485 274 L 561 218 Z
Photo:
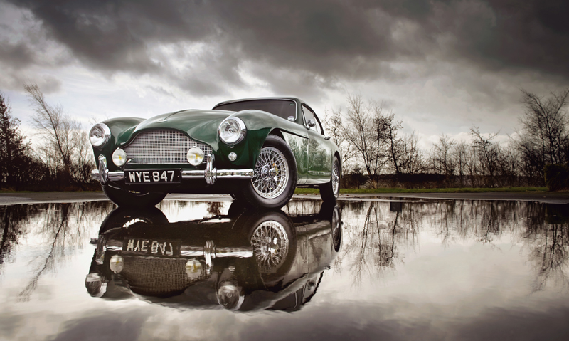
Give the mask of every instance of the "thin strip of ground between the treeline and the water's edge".
M 169 194 L 166 199 L 230 201 L 228 195 Z M 293 199 L 320 199 L 319 194 L 295 194 Z M 466 199 L 538 201 L 546 204 L 569 204 L 569 192 L 489 192 L 489 193 L 386 193 L 341 194 L 341 200 L 411 200 L 411 199 Z M 11 192 L 0 193 L 0 205 L 78 202 L 107 200 L 102 192 Z

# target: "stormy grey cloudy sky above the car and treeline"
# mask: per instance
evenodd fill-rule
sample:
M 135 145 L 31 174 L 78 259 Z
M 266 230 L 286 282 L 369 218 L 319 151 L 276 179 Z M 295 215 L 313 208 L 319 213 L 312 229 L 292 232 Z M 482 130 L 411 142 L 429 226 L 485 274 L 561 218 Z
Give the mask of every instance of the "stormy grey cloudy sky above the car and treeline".
M 293 95 L 320 116 L 383 102 L 423 144 L 506 139 L 520 89 L 569 86 L 569 1 L 0 0 L 0 90 L 23 83 L 85 125 Z

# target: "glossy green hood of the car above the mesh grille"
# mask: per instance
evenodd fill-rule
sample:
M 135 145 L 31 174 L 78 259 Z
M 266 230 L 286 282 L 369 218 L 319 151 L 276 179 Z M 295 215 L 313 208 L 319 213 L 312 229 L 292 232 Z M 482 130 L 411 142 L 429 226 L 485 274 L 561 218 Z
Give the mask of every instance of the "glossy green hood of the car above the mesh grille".
M 217 144 L 218 127 L 225 118 L 232 115 L 233 111 L 225 110 L 182 110 L 158 115 L 149 118 L 139 125 L 122 141 L 127 142 L 138 132 L 148 129 L 176 129 L 185 131 L 193 140 L 198 140 L 208 145 Z M 212 146 L 213 147 L 213 146 Z

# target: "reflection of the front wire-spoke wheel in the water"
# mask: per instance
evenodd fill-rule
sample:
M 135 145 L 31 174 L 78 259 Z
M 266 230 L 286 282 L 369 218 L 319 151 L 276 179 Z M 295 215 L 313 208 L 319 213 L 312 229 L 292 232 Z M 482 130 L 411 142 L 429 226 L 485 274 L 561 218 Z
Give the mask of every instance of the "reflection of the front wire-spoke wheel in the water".
M 253 232 L 251 246 L 260 273 L 274 273 L 285 262 L 289 252 L 287 231 L 277 221 L 264 221 Z

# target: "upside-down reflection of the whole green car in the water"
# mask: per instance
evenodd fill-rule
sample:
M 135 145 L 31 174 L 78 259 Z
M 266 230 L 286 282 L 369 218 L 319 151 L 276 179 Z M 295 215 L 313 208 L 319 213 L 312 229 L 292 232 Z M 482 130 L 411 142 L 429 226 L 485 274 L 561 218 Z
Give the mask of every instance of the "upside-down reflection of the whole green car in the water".
M 288 216 L 233 204 L 226 216 L 169 223 L 156 208 L 103 221 L 87 292 L 176 308 L 299 310 L 341 246 L 336 204 Z

